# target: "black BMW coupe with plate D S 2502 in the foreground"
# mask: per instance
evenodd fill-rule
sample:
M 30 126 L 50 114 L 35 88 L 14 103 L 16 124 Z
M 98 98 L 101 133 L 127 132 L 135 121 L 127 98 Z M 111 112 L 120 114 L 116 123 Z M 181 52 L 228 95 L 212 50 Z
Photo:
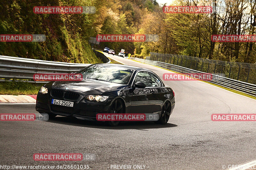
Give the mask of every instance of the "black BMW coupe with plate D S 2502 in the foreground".
M 159 114 L 166 124 L 175 106 L 172 88 L 151 70 L 119 64 L 92 64 L 78 71 L 82 81 L 52 81 L 41 87 L 36 111 L 96 121 L 98 113 Z M 118 121 L 107 121 L 116 126 Z

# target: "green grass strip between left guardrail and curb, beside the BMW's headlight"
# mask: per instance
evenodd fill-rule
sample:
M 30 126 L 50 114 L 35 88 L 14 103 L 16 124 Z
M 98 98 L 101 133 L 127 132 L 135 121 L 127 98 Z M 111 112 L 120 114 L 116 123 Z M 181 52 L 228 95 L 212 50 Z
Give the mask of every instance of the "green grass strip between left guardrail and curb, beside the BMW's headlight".
M 28 82 L 0 82 L 0 94 L 12 94 L 12 95 L 34 95 L 40 90 L 45 83 L 28 83 Z

